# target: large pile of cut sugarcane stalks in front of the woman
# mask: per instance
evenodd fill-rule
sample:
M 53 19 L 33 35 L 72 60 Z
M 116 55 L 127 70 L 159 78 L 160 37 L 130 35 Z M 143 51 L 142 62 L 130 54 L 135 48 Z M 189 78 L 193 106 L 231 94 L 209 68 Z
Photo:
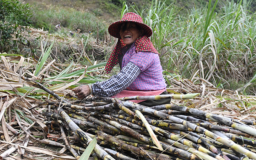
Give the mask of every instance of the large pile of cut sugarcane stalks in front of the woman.
M 256 160 L 256 129 L 251 127 L 256 121 L 238 121 L 172 104 L 146 107 L 131 102 L 177 98 L 175 94 L 68 100 L 40 83 L 25 77 L 23 80 L 57 99 L 40 103 L 49 106 L 41 114 L 47 117 L 44 123 L 49 128 L 61 132 L 65 147 L 76 159 L 96 137 L 91 153 L 94 159 Z

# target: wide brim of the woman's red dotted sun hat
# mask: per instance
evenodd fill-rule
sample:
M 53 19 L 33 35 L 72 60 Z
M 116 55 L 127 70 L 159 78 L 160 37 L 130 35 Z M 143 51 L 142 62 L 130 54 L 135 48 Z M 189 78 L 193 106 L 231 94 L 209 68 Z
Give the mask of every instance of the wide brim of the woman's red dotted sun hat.
M 116 38 L 120 38 L 120 26 L 122 23 L 125 23 L 125 22 L 133 22 L 133 23 L 136 23 L 137 25 L 140 26 L 141 29 L 143 29 L 144 31 L 144 34 L 147 36 L 147 37 L 150 37 L 152 35 L 152 29 L 144 24 L 144 23 L 138 23 L 138 22 L 134 22 L 132 20 L 120 20 L 120 21 L 117 21 L 117 22 L 114 22 L 112 23 L 109 27 L 108 27 L 108 33 L 113 36 L 113 37 L 116 37 Z

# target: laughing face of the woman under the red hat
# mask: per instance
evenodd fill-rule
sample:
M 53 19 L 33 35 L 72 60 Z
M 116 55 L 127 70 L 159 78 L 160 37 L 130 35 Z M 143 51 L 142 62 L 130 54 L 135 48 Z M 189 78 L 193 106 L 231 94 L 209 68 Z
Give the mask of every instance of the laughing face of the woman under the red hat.
M 141 30 L 138 29 L 136 23 L 127 22 L 127 23 L 122 23 L 119 33 L 120 33 L 122 41 L 126 45 L 129 45 L 129 44 L 134 43 L 134 41 L 138 37 L 140 37 Z

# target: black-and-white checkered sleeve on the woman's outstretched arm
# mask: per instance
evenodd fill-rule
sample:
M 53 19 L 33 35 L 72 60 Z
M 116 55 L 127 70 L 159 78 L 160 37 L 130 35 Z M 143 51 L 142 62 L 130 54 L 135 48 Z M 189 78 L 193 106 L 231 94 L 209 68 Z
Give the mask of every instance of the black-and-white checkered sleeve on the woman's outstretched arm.
M 110 79 L 92 84 L 92 94 L 101 97 L 112 97 L 125 90 L 140 74 L 140 69 L 132 62 L 122 68 L 120 73 Z

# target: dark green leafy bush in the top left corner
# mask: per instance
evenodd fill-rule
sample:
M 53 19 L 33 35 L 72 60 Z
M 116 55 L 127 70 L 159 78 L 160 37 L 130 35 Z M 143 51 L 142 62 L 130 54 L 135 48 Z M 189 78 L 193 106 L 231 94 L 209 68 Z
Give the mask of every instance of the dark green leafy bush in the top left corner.
M 17 51 L 17 45 L 24 40 L 21 33 L 30 26 L 30 17 L 32 14 L 28 4 L 22 4 L 19 0 L 0 1 L 0 52 L 7 49 Z

